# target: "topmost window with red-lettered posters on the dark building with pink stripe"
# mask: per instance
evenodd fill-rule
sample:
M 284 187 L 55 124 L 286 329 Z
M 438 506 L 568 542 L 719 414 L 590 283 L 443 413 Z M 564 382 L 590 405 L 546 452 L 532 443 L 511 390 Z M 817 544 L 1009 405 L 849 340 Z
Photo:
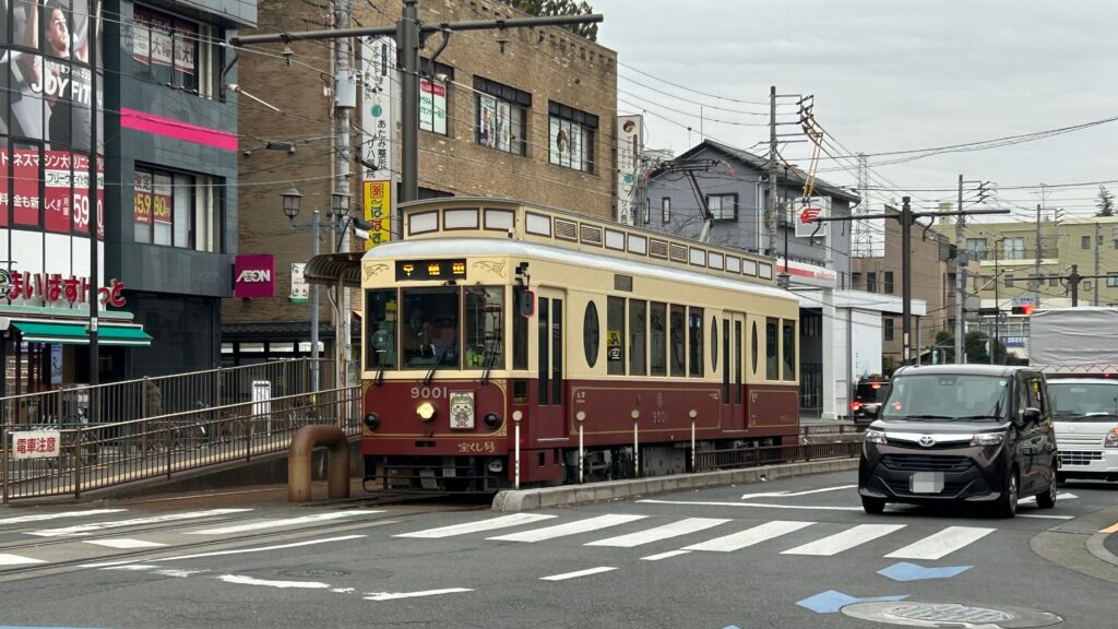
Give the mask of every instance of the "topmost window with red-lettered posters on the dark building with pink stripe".
M 132 24 L 135 76 L 200 96 L 220 94 L 225 34 L 209 25 L 136 6 Z

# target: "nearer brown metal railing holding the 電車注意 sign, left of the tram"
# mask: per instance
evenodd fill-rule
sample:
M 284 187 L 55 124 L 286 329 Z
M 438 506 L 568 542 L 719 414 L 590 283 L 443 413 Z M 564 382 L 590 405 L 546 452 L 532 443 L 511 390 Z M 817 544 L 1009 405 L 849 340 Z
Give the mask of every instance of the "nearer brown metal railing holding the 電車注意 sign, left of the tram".
M 230 461 L 285 451 L 295 431 L 307 424 L 361 431 L 361 387 L 299 393 L 191 409 L 154 417 L 111 423 L 58 423 L 58 457 L 17 459 L 0 451 L 0 486 L 10 500 L 73 495 Z M 26 430 L 44 426 L 4 424 L 11 444 Z

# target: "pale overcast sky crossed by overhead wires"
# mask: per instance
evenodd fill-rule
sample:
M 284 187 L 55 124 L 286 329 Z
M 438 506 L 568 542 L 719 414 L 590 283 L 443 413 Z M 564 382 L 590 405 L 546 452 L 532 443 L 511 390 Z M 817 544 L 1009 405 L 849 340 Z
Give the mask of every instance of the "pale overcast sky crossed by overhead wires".
M 1004 206 L 1021 208 L 1016 216 L 1035 212 L 1040 184 L 1051 186 L 1046 207 L 1086 215 L 1098 185 L 1059 186 L 1118 180 L 1118 121 L 907 163 L 881 162 L 913 153 L 874 157 L 1118 116 L 1116 0 L 589 1 L 605 15 L 598 43 L 617 51 L 618 110 L 644 110 L 648 148 L 679 154 L 699 142 L 701 126 L 765 154 L 755 144 L 768 141 L 776 85 L 779 94 L 814 95 L 828 138 L 871 156 L 871 185 L 907 190 L 922 206 L 954 199 L 961 173 L 997 182 Z M 780 102 L 793 103 L 780 111 L 795 120 L 794 100 Z M 811 156 L 803 143 L 781 154 L 805 168 Z M 852 165 L 823 160 L 819 177 L 855 186 Z M 1030 189 L 1012 189 L 1021 187 Z M 1108 188 L 1118 193 L 1118 184 Z M 902 194 L 871 199 L 877 206 Z

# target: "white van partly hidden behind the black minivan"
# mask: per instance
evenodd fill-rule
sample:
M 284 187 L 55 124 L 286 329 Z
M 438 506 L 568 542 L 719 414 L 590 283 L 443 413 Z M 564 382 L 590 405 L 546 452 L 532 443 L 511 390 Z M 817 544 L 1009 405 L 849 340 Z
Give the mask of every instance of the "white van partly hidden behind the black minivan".
M 1058 480 L 1118 481 L 1118 378 L 1050 377 Z

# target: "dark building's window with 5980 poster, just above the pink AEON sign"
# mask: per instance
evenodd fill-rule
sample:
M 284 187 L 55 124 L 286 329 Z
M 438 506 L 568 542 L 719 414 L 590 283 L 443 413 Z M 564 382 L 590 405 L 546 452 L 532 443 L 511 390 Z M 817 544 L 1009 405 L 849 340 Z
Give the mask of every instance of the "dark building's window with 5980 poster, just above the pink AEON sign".
M 135 242 L 220 252 L 219 179 L 136 166 L 133 188 Z

